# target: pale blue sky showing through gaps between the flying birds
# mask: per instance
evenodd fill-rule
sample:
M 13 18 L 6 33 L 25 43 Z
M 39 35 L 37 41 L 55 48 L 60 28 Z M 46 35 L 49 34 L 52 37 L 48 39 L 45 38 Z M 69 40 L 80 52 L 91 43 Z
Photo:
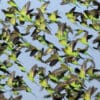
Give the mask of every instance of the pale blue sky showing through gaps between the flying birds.
M 7 4 L 6 4 L 6 1 L 7 0 L 1 0 L 1 3 L 0 3 L 0 13 L 1 13 L 1 8 L 6 8 L 7 7 Z M 16 3 L 18 4 L 18 6 L 21 8 L 27 1 L 32 1 L 31 2 L 31 8 L 37 8 L 37 7 L 40 7 L 41 6 L 41 3 L 38 2 L 38 0 L 15 0 Z M 55 11 L 55 10 L 58 10 L 59 14 L 62 16 L 62 19 L 61 21 L 62 22 L 66 22 L 68 25 L 71 25 L 73 29 L 77 29 L 77 28 L 81 28 L 81 29 L 87 29 L 89 33 L 93 34 L 94 37 L 97 36 L 97 32 L 95 30 L 91 30 L 91 29 L 88 29 L 86 27 L 81 27 L 79 24 L 72 24 L 70 23 L 70 21 L 68 21 L 65 17 L 65 12 L 69 11 L 73 5 L 70 4 L 70 5 L 63 5 L 61 6 L 59 3 L 61 0 L 48 0 L 50 1 L 50 5 L 48 6 L 47 10 L 52 12 L 52 11 Z M 85 8 L 84 7 L 77 7 L 76 10 L 78 11 L 83 11 Z M 3 15 L 1 14 L 0 16 L 0 19 L 3 18 Z M 52 26 L 51 26 L 52 28 Z M 56 26 L 54 25 L 53 28 L 52 28 L 52 31 L 55 32 L 56 30 Z M 53 43 L 55 43 L 58 47 L 60 47 L 58 41 L 56 40 L 55 36 L 49 36 L 48 35 L 48 38 L 50 39 L 50 41 L 52 41 Z M 34 44 L 34 45 L 37 45 L 39 46 L 40 48 L 42 48 L 42 45 L 40 45 L 37 41 L 32 41 L 32 39 L 30 37 L 26 37 L 25 38 L 28 42 Z M 92 46 L 92 43 L 91 43 L 91 46 Z M 99 68 L 100 66 L 100 52 L 96 51 L 96 50 L 93 50 L 93 49 L 89 49 L 89 53 L 91 54 L 91 56 L 93 56 L 94 58 L 94 61 L 96 63 L 96 67 Z M 3 57 L 0 58 L 0 59 L 4 59 Z M 49 70 L 49 66 L 47 64 L 42 64 L 40 63 L 39 61 L 36 61 L 34 58 L 32 57 L 29 57 L 29 53 L 22 53 L 21 56 L 19 56 L 18 58 L 22 64 L 26 67 L 27 71 L 30 70 L 30 68 L 34 65 L 34 64 L 38 64 L 40 66 L 44 66 L 44 67 L 47 67 L 47 70 Z M 57 64 L 59 66 L 59 64 Z M 56 66 L 57 66 L 56 65 Z M 52 99 L 44 99 L 43 96 L 45 94 L 47 94 L 47 92 L 44 90 L 44 91 L 40 91 L 40 87 L 36 84 L 33 84 L 32 82 L 30 82 L 27 78 L 26 78 L 26 75 L 23 74 L 22 72 L 19 71 L 19 69 L 15 66 L 12 70 L 17 70 L 17 74 L 20 74 L 20 75 L 24 75 L 24 79 L 25 81 L 27 82 L 27 84 L 29 85 L 29 87 L 32 88 L 33 90 L 33 93 L 36 95 L 33 96 L 32 94 L 29 94 L 29 93 L 25 93 L 25 92 L 21 92 L 21 94 L 23 95 L 23 99 L 22 100 L 52 100 Z M 88 83 L 87 83 L 88 84 Z M 97 86 L 98 87 L 98 90 L 100 90 L 100 85 L 97 81 L 95 82 L 92 82 L 91 84 L 92 86 Z M 9 97 L 9 95 L 11 94 L 7 94 L 7 96 Z

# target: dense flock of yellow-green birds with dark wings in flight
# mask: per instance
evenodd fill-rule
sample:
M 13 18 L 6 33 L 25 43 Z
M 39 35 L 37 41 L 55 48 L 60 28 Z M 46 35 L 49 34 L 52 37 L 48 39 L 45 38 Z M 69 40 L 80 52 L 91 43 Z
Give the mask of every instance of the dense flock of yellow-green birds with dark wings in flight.
M 87 88 L 85 82 L 92 80 L 100 81 L 100 69 L 96 69 L 95 62 L 88 49 L 92 48 L 100 52 L 100 2 L 97 0 L 62 0 L 61 5 L 70 3 L 75 6 L 65 13 L 66 18 L 73 24 L 76 22 L 84 27 L 94 29 L 97 32 L 97 37 L 92 41 L 96 46 L 90 47 L 89 41 L 94 37 L 87 30 L 73 30 L 66 22 L 61 22 L 62 17 L 58 14 L 58 10 L 47 12 L 47 7 L 50 1 L 43 1 L 40 8 L 30 9 L 31 2 L 28 1 L 22 9 L 19 9 L 14 0 L 9 0 L 9 7 L 2 9 L 5 15 L 4 20 L 0 19 L 0 56 L 6 55 L 7 59 L 0 61 L 0 100 L 21 100 L 20 91 L 32 93 L 31 88 L 25 83 L 23 76 L 16 75 L 16 72 L 10 72 L 10 68 L 17 65 L 20 71 L 27 74 L 27 78 L 35 84 L 39 84 L 41 89 L 45 89 L 48 95 L 44 98 L 52 97 L 53 100 L 91 100 L 95 94 L 95 100 L 100 100 L 100 91 L 95 86 Z M 81 6 L 96 6 L 96 9 L 84 10 L 77 12 L 77 3 Z M 88 20 L 91 23 L 88 23 Z M 57 25 L 57 32 L 53 34 L 49 25 Z M 20 31 L 20 26 L 26 25 L 25 33 Z M 33 31 L 30 31 L 32 30 Z M 41 35 L 41 32 L 43 33 Z M 74 35 L 74 39 L 70 40 L 69 36 Z M 39 49 L 24 39 L 25 36 L 31 36 L 32 40 L 38 40 L 42 45 L 48 48 Z M 47 35 L 55 35 L 58 39 L 61 48 L 47 39 Z M 81 46 L 78 46 L 81 44 Z M 83 47 L 83 48 L 81 48 Z M 18 60 L 22 53 L 29 52 L 31 57 L 41 63 L 48 64 L 51 69 L 57 63 L 57 67 L 53 71 L 48 71 L 47 68 L 33 65 L 27 72 L 26 68 Z M 60 54 L 63 52 L 63 54 Z M 45 56 L 50 55 L 47 59 Z M 85 57 L 84 57 L 84 56 Z M 80 64 L 80 60 L 83 62 Z M 77 67 L 71 67 L 70 64 Z M 35 81 L 38 78 L 38 83 Z M 50 82 L 54 84 L 53 87 Z M 4 93 L 12 91 L 16 97 L 11 96 L 6 98 Z M 33 94 L 33 93 L 32 93 Z M 35 94 L 33 94 L 35 95 Z

